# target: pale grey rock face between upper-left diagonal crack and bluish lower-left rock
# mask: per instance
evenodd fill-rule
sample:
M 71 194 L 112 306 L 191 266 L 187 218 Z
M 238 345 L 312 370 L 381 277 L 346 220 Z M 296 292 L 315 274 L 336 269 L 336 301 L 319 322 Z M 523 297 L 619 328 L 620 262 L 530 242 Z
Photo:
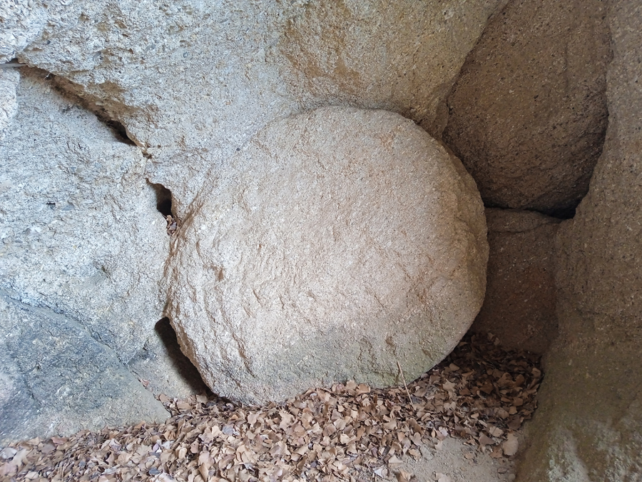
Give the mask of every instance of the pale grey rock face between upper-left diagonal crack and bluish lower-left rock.
M 146 159 L 21 69 L 0 144 L 0 288 L 78 321 L 127 362 L 162 317 L 169 240 Z

